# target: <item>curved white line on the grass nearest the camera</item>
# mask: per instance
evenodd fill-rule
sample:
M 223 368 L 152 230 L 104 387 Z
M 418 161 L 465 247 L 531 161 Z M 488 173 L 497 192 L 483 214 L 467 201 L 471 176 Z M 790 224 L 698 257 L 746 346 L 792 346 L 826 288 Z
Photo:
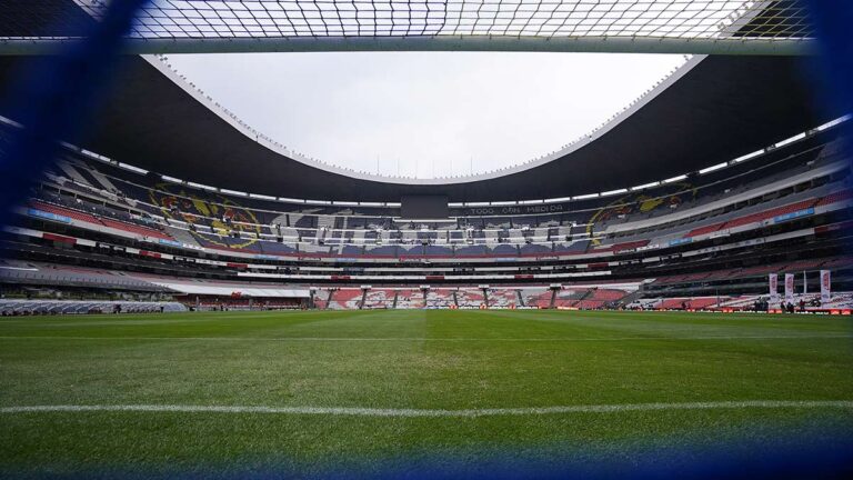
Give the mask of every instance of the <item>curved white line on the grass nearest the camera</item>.
M 0 414 L 43 412 L 165 412 L 165 413 L 265 413 L 285 416 L 343 416 L 398 418 L 476 418 L 564 413 L 619 413 L 633 411 L 721 410 L 721 409 L 853 409 L 853 401 L 750 400 L 686 403 L 628 403 L 568 407 L 495 408 L 465 410 L 382 409 L 359 407 L 250 407 L 179 404 L 91 404 L 2 407 Z

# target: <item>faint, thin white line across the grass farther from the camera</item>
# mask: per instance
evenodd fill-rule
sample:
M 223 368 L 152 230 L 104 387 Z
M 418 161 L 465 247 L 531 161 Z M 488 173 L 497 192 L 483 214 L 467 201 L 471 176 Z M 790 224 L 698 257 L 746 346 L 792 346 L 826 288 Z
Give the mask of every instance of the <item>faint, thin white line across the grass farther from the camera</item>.
M 853 339 L 853 334 L 789 334 L 789 336 L 670 336 L 670 337 L 543 337 L 543 338 L 422 338 L 422 337 L 76 337 L 76 336 L 0 336 L 0 340 L 174 340 L 174 341 L 428 341 L 428 342 L 609 342 L 609 341 L 661 341 L 661 340 L 811 340 Z

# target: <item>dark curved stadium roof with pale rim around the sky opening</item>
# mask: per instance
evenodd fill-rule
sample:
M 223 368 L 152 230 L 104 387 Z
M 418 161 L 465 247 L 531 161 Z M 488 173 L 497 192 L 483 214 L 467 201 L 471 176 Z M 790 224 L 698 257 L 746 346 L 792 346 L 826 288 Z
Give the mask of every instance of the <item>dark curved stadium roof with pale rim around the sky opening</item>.
M 17 3 L 29 4 L 10 1 L 10 11 Z M 693 3 L 673 1 L 679 2 Z M 37 3 L 50 11 L 68 8 L 63 0 Z M 769 2 L 759 3 L 767 7 Z M 771 3 L 790 7 L 790 2 Z M 79 9 L 69 13 L 73 14 Z M 0 33 L 8 31 L 3 21 L 11 17 L 0 13 Z M 740 28 L 756 32 L 754 21 L 755 17 Z M 18 18 L 16 24 L 23 26 L 20 34 L 43 36 L 54 32 L 56 27 L 47 24 L 57 23 L 36 26 Z M 556 154 L 488 174 L 414 180 L 357 173 L 305 159 L 227 114 L 162 61 L 127 57 L 90 136 L 79 143 L 170 177 L 275 197 L 342 201 L 397 201 L 419 193 L 446 194 L 451 201 L 564 198 L 696 171 L 846 113 L 812 107 L 800 61 L 695 57 L 604 128 Z M 0 57 L 0 76 L 8 77 L 16 62 L 13 57 Z

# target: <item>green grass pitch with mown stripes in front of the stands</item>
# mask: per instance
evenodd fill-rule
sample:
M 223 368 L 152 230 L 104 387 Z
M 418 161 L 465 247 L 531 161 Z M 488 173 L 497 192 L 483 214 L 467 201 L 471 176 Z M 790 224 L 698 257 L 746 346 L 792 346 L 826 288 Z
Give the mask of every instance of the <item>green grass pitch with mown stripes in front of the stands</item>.
M 370 471 L 434 456 L 619 457 L 827 426 L 853 431 L 851 347 L 850 318 L 814 316 L 3 318 L 0 476 Z M 840 403 L 821 403 L 830 401 Z M 47 409 L 19 409 L 33 406 Z M 568 409 L 538 410 L 554 407 Z

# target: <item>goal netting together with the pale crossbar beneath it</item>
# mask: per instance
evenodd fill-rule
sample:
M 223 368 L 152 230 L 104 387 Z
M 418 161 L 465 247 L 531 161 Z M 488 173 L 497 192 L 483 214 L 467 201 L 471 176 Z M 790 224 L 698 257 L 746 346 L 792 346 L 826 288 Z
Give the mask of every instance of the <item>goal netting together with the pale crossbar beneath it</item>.
M 83 33 L 109 2 L 6 0 L 0 53 Z M 13 28 L 6 28 L 13 26 Z M 51 26 L 51 28 L 47 28 Z M 791 54 L 813 27 L 797 0 L 150 0 L 131 53 L 515 50 Z

